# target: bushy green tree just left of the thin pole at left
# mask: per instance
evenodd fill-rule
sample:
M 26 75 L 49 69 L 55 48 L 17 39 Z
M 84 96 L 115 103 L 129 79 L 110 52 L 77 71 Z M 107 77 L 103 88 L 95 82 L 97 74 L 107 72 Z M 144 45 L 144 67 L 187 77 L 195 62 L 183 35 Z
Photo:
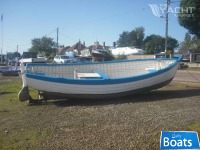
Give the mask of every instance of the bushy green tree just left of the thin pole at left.
M 29 52 L 45 52 L 45 54 L 49 56 L 51 53 L 55 53 L 55 46 L 56 43 L 53 41 L 52 38 L 34 38 L 32 40 L 32 47 L 29 49 Z

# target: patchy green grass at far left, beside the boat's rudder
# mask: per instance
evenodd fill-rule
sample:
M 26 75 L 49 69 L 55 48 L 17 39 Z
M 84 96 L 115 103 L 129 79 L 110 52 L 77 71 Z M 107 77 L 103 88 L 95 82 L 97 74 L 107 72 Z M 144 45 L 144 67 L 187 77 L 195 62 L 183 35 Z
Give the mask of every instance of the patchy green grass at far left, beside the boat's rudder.
M 17 94 L 21 88 L 21 82 L 14 83 L 10 79 L 3 79 L 0 86 L 0 149 L 28 149 L 38 144 L 43 137 L 47 137 L 47 131 L 40 131 L 39 126 L 34 128 L 28 125 L 29 117 L 21 120 L 26 113 L 31 113 L 27 103 L 20 103 Z

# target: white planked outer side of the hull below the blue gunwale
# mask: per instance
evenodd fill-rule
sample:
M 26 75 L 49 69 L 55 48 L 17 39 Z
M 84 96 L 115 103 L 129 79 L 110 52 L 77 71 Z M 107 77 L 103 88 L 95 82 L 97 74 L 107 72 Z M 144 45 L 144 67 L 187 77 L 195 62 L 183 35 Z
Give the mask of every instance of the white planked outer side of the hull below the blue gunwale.
M 111 85 L 76 85 L 66 83 L 54 83 L 27 78 L 28 86 L 40 91 L 63 93 L 63 94 L 114 94 L 126 91 L 142 89 L 155 84 L 159 84 L 172 79 L 177 68 L 173 68 L 166 73 L 130 83 Z

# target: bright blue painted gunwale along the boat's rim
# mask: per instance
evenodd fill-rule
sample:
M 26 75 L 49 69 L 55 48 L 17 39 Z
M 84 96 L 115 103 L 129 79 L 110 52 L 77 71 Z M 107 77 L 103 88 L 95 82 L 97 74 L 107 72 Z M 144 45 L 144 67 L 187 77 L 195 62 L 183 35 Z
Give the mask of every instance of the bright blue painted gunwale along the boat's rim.
M 150 73 L 144 73 L 144 74 L 139 74 L 136 76 L 129 76 L 129 77 L 121 77 L 121 78 L 108 78 L 108 79 L 73 79 L 73 78 L 63 78 L 63 77 L 53 77 L 53 76 L 45 76 L 45 75 L 41 75 L 41 74 L 33 74 L 30 73 L 28 70 L 26 71 L 26 77 L 27 78 L 33 78 L 33 79 L 37 79 L 37 80 L 44 80 L 44 81 L 48 81 L 48 82 L 56 82 L 56 83 L 63 83 L 63 84 L 80 84 L 80 85 L 106 85 L 106 84 L 121 84 L 121 83 L 127 83 L 127 82 L 134 82 L 134 81 L 140 81 L 140 80 L 144 80 L 147 78 L 151 78 L 153 76 L 157 76 L 160 74 L 163 74 L 171 69 L 173 69 L 173 67 L 175 67 L 179 62 L 180 62 L 180 58 L 165 58 L 165 59 L 138 59 L 140 61 L 144 61 L 144 60 L 175 60 L 173 63 L 169 64 L 169 66 L 162 68 L 160 70 L 155 70 L 154 72 L 150 72 Z M 138 61 L 138 60 L 128 60 L 128 61 L 112 61 L 112 62 L 106 62 L 106 63 L 115 63 L 115 62 L 130 62 L 130 61 Z M 94 63 L 91 63 L 94 64 Z M 100 64 L 100 63 L 97 63 Z M 102 64 L 102 63 L 101 63 Z M 28 66 L 45 66 L 44 64 L 28 64 Z M 46 64 L 48 65 L 48 64 Z M 53 64 L 54 65 L 54 64 Z M 63 64 L 66 65 L 66 64 Z M 71 64 L 67 64 L 67 65 L 71 65 Z M 73 64 L 73 65 L 77 65 L 77 64 Z M 79 64 L 78 64 L 79 65 Z M 82 65 L 82 64 L 80 64 Z M 85 65 L 85 64 L 83 64 Z

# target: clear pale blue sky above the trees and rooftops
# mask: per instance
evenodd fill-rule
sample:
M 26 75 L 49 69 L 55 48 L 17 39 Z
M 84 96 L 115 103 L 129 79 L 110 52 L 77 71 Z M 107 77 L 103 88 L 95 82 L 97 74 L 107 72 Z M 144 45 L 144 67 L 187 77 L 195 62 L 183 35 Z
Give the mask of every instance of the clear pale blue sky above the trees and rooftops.
M 0 0 L 0 48 L 3 54 L 27 51 L 31 40 L 51 37 L 59 45 L 72 46 L 79 40 L 86 46 L 98 41 L 112 46 L 123 31 L 145 28 L 145 36 L 165 36 L 162 13 L 166 0 Z M 180 0 L 171 0 L 169 36 L 184 40 L 186 29 L 178 23 L 175 11 Z M 150 4 L 157 6 L 157 14 Z M 159 12 L 158 12 L 159 11 Z M 3 18 L 2 18 L 3 15 Z

